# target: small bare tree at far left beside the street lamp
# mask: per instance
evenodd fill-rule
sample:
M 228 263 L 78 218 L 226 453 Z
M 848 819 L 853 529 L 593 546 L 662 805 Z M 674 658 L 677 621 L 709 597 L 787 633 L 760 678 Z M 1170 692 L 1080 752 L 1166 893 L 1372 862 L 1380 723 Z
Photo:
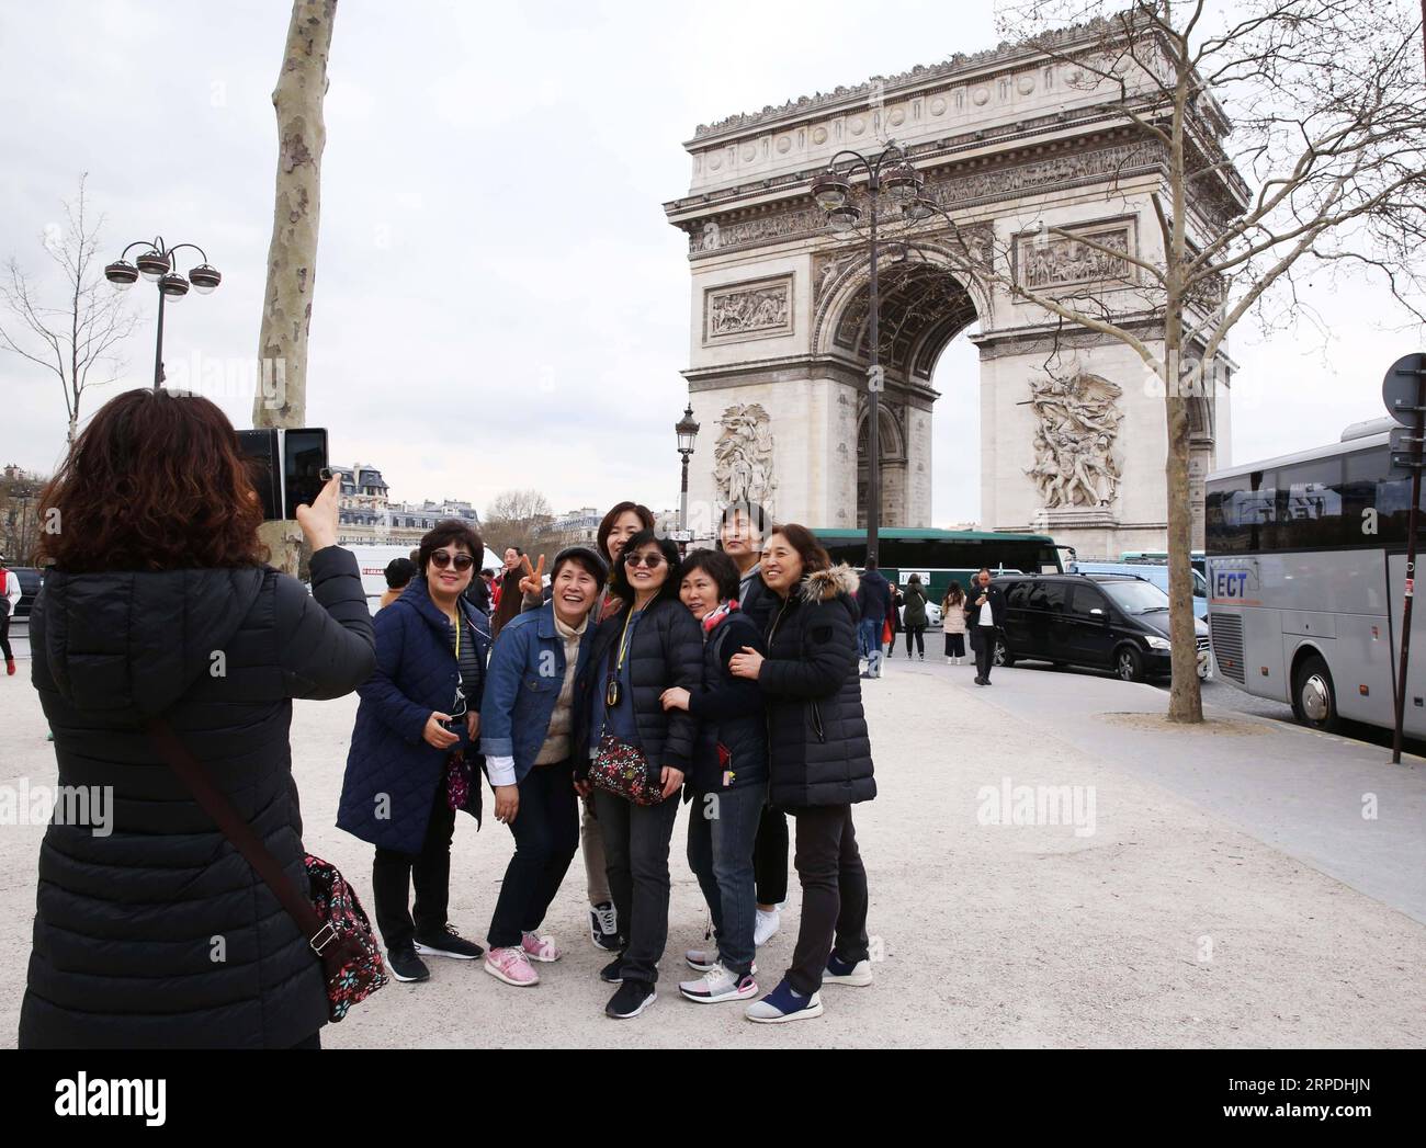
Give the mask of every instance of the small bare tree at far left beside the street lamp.
M 64 394 L 68 441 L 78 434 L 84 391 L 114 382 L 123 368 L 118 345 L 138 324 L 121 294 L 104 280 L 98 255 L 104 217 L 94 217 L 84 184 L 74 200 L 64 203 L 64 222 L 44 230 L 46 254 L 64 277 L 64 294 L 57 304 L 41 302 L 41 288 L 11 255 L 0 282 L 0 304 L 9 319 L 0 319 L 0 349 L 51 371 Z

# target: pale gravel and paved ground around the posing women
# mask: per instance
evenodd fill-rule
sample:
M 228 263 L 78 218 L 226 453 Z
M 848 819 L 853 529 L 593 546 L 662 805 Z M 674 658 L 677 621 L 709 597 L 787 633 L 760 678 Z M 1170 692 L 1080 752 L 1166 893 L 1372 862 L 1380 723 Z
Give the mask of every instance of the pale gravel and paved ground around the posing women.
M 436 961 L 421 985 L 392 984 L 324 1030 L 329 1047 L 1419 1047 L 1426 927 L 1263 844 L 1221 813 L 1147 780 L 1131 754 L 1085 752 L 1035 717 L 1035 689 L 1082 695 L 1091 716 L 1122 706 L 1094 676 L 893 663 L 863 683 L 880 796 L 857 809 L 880 958 L 870 988 L 824 991 L 826 1015 L 752 1025 L 734 1004 L 677 997 L 677 957 L 706 913 L 672 857 L 673 903 L 659 1000 L 636 1021 L 602 1008 L 602 955 L 589 944 L 579 860 L 546 930 L 566 947 L 542 983 L 516 990 L 478 963 Z M 1128 687 L 1137 689 L 1137 687 Z M 1031 716 L 992 695 L 1014 690 Z M 1152 695 L 1149 695 L 1152 696 Z M 0 679 L 0 784 L 53 781 L 53 753 L 27 676 Z M 1132 707 L 1129 707 L 1132 709 Z M 298 703 L 294 760 L 307 844 L 369 906 L 371 850 L 332 827 L 355 699 Z M 1118 720 L 1118 719 L 1117 719 Z M 1252 722 L 1252 719 L 1243 719 Z M 1108 737 L 1141 730 L 1101 723 Z M 1248 760 L 1298 732 L 1253 723 Z M 1232 744 L 1236 744 L 1233 739 Z M 1225 742 L 1226 743 L 1226 742 Z M 1125 743 L 1128 744 L 1128 742 Z M 1172 733 L 1165 754 L 1184 752 Z M 1279 747 L 1281 749 L 1281 747 Z M 1236 752 L 1236 750 L 1235 750 Z M 1323 739 L 1322 753 L 1349 753 Z M 1092 834 L 1071 824 L 984 824 L 988 796 L 1014 786 L 1094 787 Z M 985 787 L 983 790 L 983 787 Z M 981 816 L 978 816 L 981 814 Z M 34 906 L 37 826 L 0 834 L 0 1034 L 13 1044 Z M 452 921 L 483 940 L 511 836 L 462 817 Z M 759 954 L 770 988 L 789 960 L 797 893 Z

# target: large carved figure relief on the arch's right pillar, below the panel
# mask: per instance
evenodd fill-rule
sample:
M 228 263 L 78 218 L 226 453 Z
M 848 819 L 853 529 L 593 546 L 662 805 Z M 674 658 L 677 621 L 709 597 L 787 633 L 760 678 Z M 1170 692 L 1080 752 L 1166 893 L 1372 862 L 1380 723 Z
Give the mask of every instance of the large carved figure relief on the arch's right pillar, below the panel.
M 1114 458 L 1124 412 L 1124 391 L 1097 375 L 1031 379 L 1028 404 L 1035 412 L 1035 465 L 1025 471 L 1050 509 L 1108 506 L 1118 496 L 1119 463 Z

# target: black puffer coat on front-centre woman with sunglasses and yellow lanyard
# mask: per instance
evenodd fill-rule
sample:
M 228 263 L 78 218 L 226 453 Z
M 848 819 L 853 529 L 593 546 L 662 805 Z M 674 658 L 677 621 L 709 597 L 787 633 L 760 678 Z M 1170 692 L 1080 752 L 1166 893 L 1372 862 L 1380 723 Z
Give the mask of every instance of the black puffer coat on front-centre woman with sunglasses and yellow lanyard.
M 585 690 L 588 714 L 603 712 L 610 653 L 619 643 L 629 608 L 623 606 L 600 622 L 595 632 L 585 679 L 576 686 Z M 697 720 L 687 710 L 665 710 L 659 703 L 669 686 L 683 686 L 686 690 L 703 686 L 703 632 L 677 598 L 660 598 L 645 609 L 629 639 L 627 662 L 639 747 L 649 760 L 650 781 L 659 780 L 665 766 L 687 774 Z M 576 744 L 589 743 L 589 723 L 583 724 Z M 583 780 L 589 774 L 589 759 L 578 763 L 575 773 Z

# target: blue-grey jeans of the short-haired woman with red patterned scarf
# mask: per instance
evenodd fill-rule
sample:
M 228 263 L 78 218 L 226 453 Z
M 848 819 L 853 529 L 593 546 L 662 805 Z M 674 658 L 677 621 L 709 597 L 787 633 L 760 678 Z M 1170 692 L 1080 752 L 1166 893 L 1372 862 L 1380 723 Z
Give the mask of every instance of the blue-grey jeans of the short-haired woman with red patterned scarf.
M 689 868 L 713 914 L 719 960 L 737 977 L 753 971 L 753 840 L 766 803 L 767 786 L 743 786 L 694 791 L 689 809 Z

